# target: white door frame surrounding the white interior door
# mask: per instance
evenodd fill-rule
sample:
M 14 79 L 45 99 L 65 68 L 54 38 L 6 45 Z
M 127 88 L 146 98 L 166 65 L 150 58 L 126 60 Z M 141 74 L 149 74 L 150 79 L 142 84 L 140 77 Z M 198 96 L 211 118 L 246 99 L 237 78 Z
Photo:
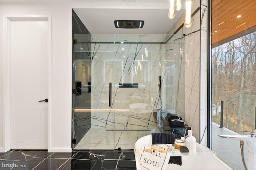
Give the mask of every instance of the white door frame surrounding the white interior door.
M 48 150 L 51 141 L 51 84 L 52 84 L 52 18 L 50 15 L 8 15 L 4 16 L 3 42 L 3 119 L 2 143 L 0 152 L 10 150 L 10 22 L 11 21 L 48 21 Z

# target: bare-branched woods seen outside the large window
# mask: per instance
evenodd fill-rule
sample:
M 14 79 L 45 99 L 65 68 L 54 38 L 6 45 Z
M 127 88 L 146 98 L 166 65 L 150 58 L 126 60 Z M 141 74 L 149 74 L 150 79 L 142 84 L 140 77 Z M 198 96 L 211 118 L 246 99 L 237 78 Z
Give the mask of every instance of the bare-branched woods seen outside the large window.
M 256 113 L 256 32 L 212 49 L 212 121 L 242 134 L 253 131 Z

